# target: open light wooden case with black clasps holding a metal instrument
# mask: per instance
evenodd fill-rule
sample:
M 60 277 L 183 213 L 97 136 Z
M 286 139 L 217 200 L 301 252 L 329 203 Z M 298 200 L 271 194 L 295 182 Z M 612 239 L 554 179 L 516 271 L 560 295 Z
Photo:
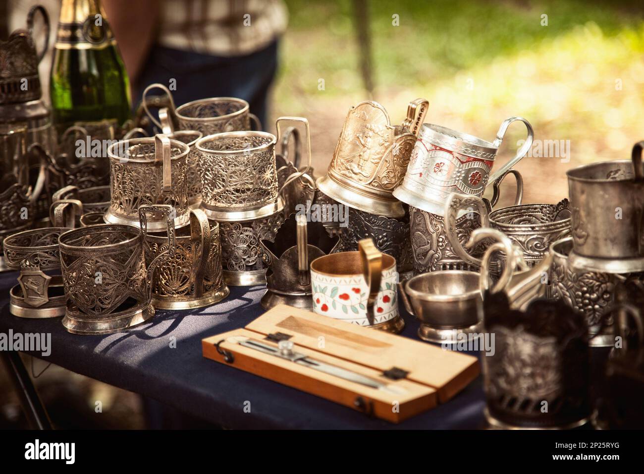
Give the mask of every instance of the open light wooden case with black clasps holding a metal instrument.
M 227 341 L 236 336 L 275 347 L 280 339 L 288 339 L 294 351 L 377 379 L 396 393 Z M 479 373 L 478 360 L 471 355 L 285 305 L 243 329 L 203 339 L 202 348 L 208 359 L 394 423 L 450 400 Z

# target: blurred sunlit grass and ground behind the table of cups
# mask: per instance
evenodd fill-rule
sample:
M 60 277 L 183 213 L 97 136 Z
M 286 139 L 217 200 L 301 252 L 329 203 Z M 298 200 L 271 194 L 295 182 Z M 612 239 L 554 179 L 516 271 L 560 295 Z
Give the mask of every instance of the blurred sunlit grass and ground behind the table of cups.
M 395 124 L 410 100 L 425 97 L 426 121 L 489 141 L 512 115 L 533 124 L 535 139 L 569 140 L 568 163 L 532 157 L 516 166 L 526 202 L 558 201 L 567 195 L 565 170 L 628 158 L 644 137 L 644 3 L 369 1 L 373 97 L 360 74 L 352 1 L 287 5 L 273 115 L 309 119 L 316 175 L 326 171 L 346 112 L 366 99 L 382 103 Z M 525 135 L 522 125 L 510 130 L 501 163 Z

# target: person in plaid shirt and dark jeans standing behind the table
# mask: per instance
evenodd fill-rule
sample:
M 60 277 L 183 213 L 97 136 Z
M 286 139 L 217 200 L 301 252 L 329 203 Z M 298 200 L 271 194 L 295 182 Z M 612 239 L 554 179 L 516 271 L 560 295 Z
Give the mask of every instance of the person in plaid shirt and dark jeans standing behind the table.
M 104 0 L 131 80 L 171 84 L 176 106 L 239 97 L 266 126 L 267 99 L 288 13 L 282 0 Z

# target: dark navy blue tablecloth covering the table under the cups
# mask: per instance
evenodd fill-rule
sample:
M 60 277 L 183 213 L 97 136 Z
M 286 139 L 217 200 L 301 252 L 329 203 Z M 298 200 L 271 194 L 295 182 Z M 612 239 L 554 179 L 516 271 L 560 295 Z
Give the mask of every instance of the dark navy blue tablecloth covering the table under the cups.
M 100 336 L 70 334 L 61 318 L 22 319 L 8 310 L 17 273 L 0 274 L 0 332 L 51 333 L 42 357 L 68 370 L 140 393 L 225 428 L 482 428 L 484 394 L 479 376 L 450 402 L 400 424 L 370 419 L 314 395 L 202 357 L 201 341 L 242 328 L 263 313 L 263 286 L 231 287 L 210 308 L 157 310 L 151 322 Z M 404 312 L 403 335 L 417 339 L 418 322 Z M 173 339 L 174 338 L 174 339 Z M 171 342 L 176 341 L 176 348 Z M 41 357 L 39 353 L 33 353 Z M 429 363 L 429 362 L 428 362 Z M 244 407 L 250 402 L 250 413 Z

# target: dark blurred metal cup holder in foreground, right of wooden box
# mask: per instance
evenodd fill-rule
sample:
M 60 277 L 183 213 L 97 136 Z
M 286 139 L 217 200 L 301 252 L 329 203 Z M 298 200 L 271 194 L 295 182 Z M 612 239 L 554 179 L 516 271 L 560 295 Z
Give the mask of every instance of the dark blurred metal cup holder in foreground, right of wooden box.
M 560 301 L 511 309 L 506 293 L 484 294 L 484 328 L 494 352 L 482 354 L 485 415 L 491 428 L 564 429 L 587 423 L 589 347 L 583 317 Z

